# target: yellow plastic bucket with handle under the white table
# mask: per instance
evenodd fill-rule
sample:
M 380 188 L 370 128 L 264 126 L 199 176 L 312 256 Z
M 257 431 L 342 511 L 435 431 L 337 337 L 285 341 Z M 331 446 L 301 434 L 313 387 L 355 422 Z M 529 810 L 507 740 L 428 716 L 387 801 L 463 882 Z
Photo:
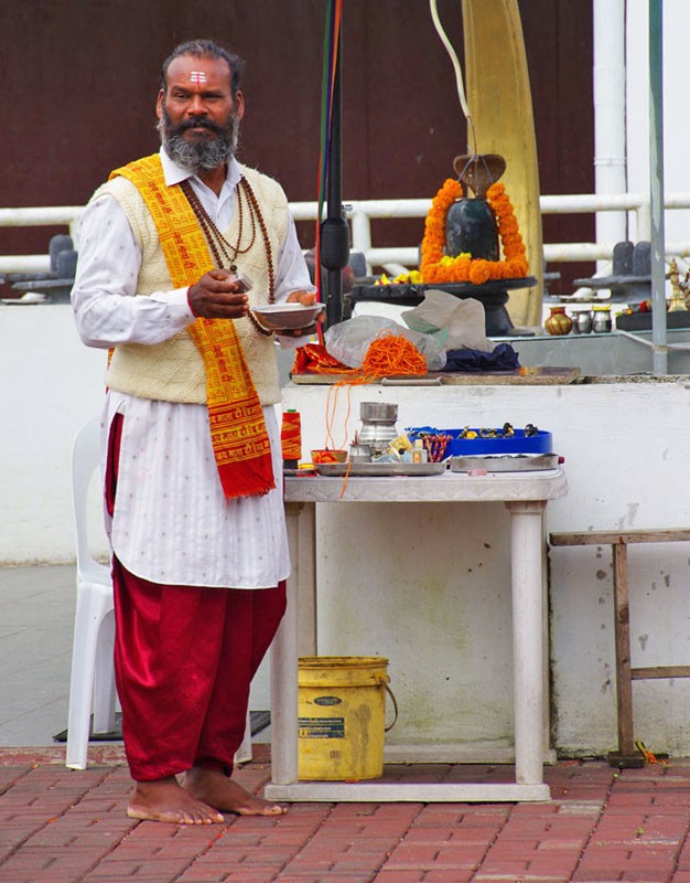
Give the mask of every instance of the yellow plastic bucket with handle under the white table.
M 310 656 L 299 664 L 299 776 L 375 779 L 384 773 L 388 660 Z M 396 719 L 398 709 L 396 710 Z

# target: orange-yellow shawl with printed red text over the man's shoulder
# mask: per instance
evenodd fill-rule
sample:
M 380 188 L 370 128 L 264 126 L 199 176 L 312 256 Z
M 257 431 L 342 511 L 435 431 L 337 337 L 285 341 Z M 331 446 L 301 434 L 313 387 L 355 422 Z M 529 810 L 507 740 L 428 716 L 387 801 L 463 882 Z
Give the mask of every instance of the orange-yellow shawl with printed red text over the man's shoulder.
M 151 212 L 175 288 L 194 285 L 214 268 L 208 245 L 182 189 L 168 187 L 158 153 L 110 173 L 134 184 Z M 226 498 L 276 487 L 259 396 L 231 319 L 198 318 L 188 328 L 206 371 L 208 424 Z

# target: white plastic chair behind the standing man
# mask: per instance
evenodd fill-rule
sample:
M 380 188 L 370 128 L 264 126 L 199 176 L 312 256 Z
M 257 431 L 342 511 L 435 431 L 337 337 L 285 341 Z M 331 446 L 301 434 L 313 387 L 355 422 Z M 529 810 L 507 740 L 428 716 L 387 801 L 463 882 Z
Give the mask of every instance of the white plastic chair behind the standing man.
M 88 544 L 87 499 L 94 472 L 101 467 L 100 419 L 85 424 L 72 447 L 72 502 L 76 531 L 77 603 L 74 619 L 66 765 L 86 769 L 91 705 L 94 733 L 115 730 L 115 610 L 110 567 L 97 562 Z M 251 721 L 235 763 L 251 760 Z

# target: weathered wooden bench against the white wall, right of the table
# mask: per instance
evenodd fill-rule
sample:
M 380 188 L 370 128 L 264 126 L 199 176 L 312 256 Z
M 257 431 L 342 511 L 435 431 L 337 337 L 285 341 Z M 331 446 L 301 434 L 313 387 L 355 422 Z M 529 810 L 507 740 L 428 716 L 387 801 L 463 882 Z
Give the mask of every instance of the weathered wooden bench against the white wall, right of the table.
M 650 668 L 633 668 L 630 666 L 627 546 L 630 543 L 675 543 L 687 541 L 690 541 L 690 528 L 549 534 L 549 542 L 552 546 L 612 546 L 618 719 L 618 751 L 608 755 L 608 762 L 612 766 L 644 766 L 646 760 L 645 755 L 635 745 L 633 732 L 633 681 L 655 678 L 690 678 L 690 666 L 653 666 Z

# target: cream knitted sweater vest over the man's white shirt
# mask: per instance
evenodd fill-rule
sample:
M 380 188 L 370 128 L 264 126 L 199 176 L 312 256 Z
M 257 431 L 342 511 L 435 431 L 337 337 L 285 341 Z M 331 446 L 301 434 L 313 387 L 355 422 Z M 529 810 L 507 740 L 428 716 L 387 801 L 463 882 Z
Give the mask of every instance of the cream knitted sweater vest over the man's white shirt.
M 245 166 L 240 166 L 240 169 L 261 206 L 276 267 L 276 259 L 288 231 L 287 196 L 280 184 L 271 178 Z M 173 285 L 155 225 L 137 188 L 126 178 L 118 177 L 100 187 L 91 199 L 103 193 L 109 193 L 120 203 L 141 247 L 137 295 L 170 290 Z M 244 224 L 242 244 L 247 242 L 246 205 Z M 229 228 L 224 231 L 224 236 L 229 242 L 237 241 L 237 226 L 238 216 L 235 212 Z M 254 245 L 246 254 L 239 255 L 237 265 L 254 283 L 249 291 L 249 305 L 268 304 L 268 265 L 263 236 L 258 224 Z M 200 277 L 202 275 L 200 273 Z M 233 321 L 259 401 L 262 405 L 276 404 L 280 401 L 280 389 L 273 337 L 259 333 L 248 318 Z M 106 382 L 111 390 L 140 398 L 206 403 L 204 363 L 187 331 L 181 331 L 162 343 L 126 343 L 116 347 Z

